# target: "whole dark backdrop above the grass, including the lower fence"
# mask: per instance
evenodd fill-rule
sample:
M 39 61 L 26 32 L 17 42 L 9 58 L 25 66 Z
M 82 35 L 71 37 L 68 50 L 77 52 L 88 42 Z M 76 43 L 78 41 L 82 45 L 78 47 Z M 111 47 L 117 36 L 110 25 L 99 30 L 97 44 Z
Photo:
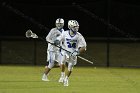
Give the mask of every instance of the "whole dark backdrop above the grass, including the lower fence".
M 85 37 L 81 66 L 140 67 L 138 0 L 0 0 L 0 64 L 46 65 L 45 37 L 57 18 L 75 19 Z M 25 37 L 31 29 L 42 39 Z

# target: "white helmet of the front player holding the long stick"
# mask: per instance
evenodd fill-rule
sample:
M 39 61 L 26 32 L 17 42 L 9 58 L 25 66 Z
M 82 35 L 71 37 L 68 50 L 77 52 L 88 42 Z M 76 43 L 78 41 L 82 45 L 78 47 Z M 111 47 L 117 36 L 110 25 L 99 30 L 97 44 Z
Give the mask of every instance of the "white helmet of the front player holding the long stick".
M 72 31 L 78 31 L 79 30 L 79 23 L 76 20 L 69 20 L 68 21 L 68 28 Z

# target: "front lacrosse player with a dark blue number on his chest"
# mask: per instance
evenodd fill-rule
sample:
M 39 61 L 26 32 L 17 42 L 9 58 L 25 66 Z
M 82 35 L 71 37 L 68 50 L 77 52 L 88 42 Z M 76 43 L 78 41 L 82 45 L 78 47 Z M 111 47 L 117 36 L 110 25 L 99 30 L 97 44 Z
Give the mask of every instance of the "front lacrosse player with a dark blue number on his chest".
M 57 40 L 63 42 L 61 49 L 61 66 L 65 67 L 65 63 L 68 63 L 68 71 L 63 78 L 64 86 L 69 86 L 68 80 L 72 73 L 74 65 L 77 63 L 77 55 L 80 55 L 86 51 L 86 41 L 84 37 L 78 32 L 79 23 L 76 20 L 68 21 L 69 30 L 64 31 Z M 65 51 L 68 50 L 68 51 Z M 62 71 L 63 72 L 63 71 Z

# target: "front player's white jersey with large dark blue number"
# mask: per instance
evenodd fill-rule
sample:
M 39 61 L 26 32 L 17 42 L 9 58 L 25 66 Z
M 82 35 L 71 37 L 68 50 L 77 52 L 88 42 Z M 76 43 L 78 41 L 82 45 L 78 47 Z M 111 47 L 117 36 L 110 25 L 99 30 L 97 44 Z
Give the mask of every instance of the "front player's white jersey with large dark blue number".
M 64 31 L 61 36 L 59 36 L 57 39 L 63 42 L 62 48 L 70 51 L 71 53 L 74 52 L 75 50 L 78 50 L 80 47 L 85 47 L 86 48 L 86 42 L 84 37 L 77 32 L 74 36 L 71 36 L 70 31 Z M 62 49 L 62 54 L 63 53 L 68 53 L 64 52 Z

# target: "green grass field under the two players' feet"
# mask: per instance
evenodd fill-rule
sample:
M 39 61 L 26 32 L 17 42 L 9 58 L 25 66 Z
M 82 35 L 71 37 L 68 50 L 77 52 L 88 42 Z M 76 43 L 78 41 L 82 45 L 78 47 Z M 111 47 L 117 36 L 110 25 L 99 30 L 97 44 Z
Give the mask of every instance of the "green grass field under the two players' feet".
M 58 83 L 60 69 L 51 81 L 41 81 L 43 66 L 0 66 L 0 93 L 140 93 L 140 69 L 74 67 L 69 86 Z

